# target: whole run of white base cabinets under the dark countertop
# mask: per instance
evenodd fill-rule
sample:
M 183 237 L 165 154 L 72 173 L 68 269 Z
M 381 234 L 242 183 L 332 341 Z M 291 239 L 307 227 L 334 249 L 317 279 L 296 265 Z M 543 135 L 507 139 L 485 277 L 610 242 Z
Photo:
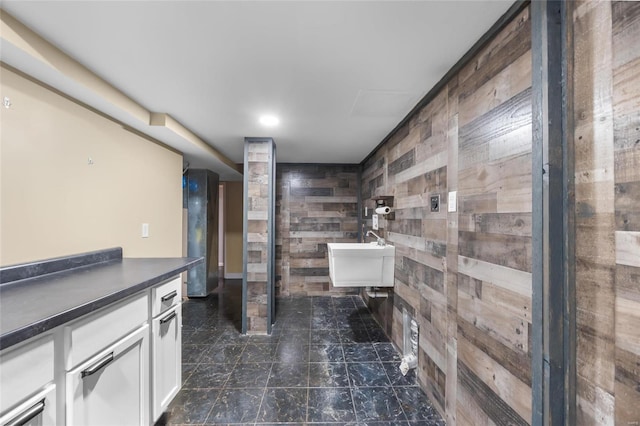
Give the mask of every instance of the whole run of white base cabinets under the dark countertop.
M 0 426 L 153 425 L 182 384 L 180 278 L 0 352 Z

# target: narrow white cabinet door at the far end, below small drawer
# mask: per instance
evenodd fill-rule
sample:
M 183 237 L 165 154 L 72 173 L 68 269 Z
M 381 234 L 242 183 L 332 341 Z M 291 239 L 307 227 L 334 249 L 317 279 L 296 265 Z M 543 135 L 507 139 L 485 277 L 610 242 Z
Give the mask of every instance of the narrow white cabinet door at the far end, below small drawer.
M 153 319 L 152 392 L 156 421 L 182 384 L 182 305 Z

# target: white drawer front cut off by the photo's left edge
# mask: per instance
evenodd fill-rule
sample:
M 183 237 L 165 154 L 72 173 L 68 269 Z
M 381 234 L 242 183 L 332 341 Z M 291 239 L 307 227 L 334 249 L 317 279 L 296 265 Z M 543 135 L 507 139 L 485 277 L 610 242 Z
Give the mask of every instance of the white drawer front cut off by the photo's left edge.
M 53 335 L 0 354 L 0 413 L 53 382 Z

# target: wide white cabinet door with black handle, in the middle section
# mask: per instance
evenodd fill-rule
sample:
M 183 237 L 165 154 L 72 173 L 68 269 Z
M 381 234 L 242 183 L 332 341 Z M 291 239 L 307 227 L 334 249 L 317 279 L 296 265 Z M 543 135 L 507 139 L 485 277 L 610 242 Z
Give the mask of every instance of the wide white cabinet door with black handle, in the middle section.
M 67 425 L 148 425 L 149 326 L 67 373 Z

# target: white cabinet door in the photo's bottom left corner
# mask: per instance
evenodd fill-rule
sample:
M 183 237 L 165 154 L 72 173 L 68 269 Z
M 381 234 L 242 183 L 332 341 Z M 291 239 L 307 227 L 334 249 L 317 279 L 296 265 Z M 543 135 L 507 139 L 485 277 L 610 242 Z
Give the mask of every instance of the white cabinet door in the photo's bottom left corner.
M 0 425 L 53 426 L 56 424 L 56 385 L 50 384 L 35 396 L 0 417 Z

